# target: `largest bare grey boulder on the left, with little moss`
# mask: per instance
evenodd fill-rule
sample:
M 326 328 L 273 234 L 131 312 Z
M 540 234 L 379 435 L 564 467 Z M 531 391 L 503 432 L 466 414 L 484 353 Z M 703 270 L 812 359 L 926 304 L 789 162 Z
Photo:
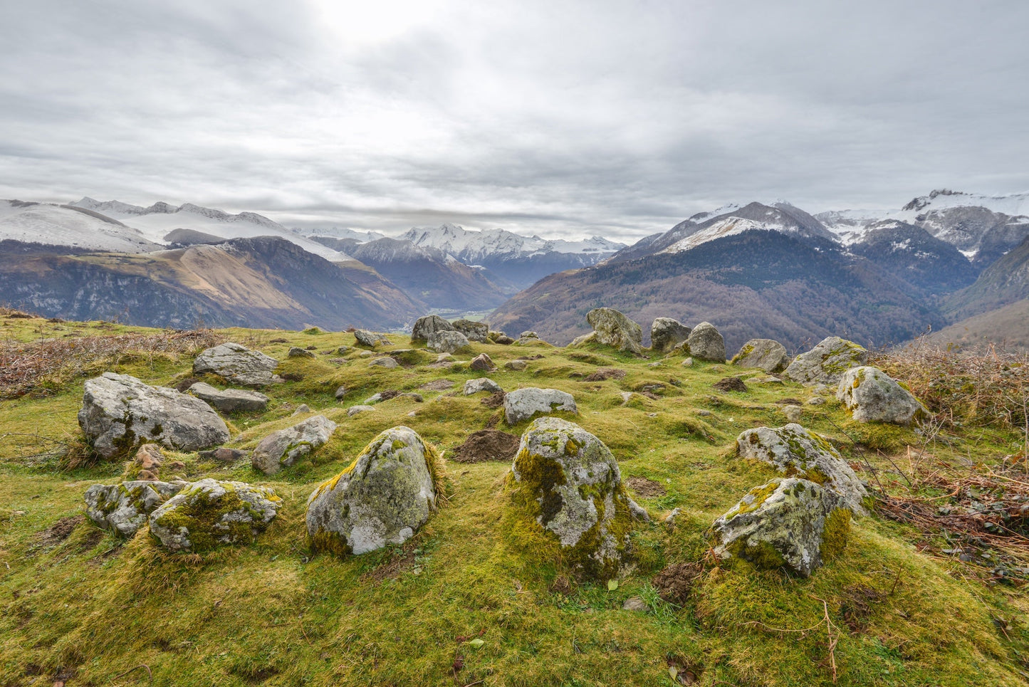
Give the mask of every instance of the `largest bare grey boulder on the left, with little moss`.
M 104 458 L 147 442 L 190 451 L 228 440 L 224 421 L 199 398 L 114 372 L 86 381 L 78 425 Z

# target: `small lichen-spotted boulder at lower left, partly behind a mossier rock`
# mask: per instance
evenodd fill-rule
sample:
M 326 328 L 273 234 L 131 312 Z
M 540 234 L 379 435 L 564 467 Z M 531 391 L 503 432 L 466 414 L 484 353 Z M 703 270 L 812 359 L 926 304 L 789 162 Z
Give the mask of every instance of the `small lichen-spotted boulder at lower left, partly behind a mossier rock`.
M 147 516 L 184 485 L 185 482 L 147 480 L 94 484 L 85 491 L 85 516 L 99 528 L 134 537 Z

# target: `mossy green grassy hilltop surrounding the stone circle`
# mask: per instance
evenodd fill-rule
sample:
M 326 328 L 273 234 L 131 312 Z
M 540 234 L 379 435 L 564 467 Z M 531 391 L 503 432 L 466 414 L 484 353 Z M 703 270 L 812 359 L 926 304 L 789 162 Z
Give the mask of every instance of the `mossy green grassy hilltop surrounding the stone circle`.
M 1029 680 L 1029 366 L 929 351 L 870 364 L 908 383 L 934 413 L 922 428 L 853 422 L 831 397 L 801 424 L 833 442 L 877 495 L 847 549 L 810 578 L 710 555 L 706 529 L 775 476 L 733 450 L 752 427 L 786 423 L 792 383 L 719 391 L 731 365 L 640 359 L 610 349 L 472 344 L 501 366 L 504 390 L 571 393 L 569 418 L 616 457 L 651 517 L 633 535 L 635 567 L 577 580 L 532 533 L 508 527 L 509 463 L 458 463 L 468 434 L 508 428 L 482 376 L 368 367 L 351 333 L 203 332 L 55 322 L 0 313 L 0 685 L 1024 685 Z M 395 346 L 413 348 L 406 336 Z M 122 461 L 91 460 L 76 422 L 84 379 L 104 371 L 151 385 L 191 376 L 204 348 L 237 341 L 282 360 L 263 413 L 226 418 L 229 446 L 252 448 L 294 424 L 301 403 L 340 427 L 328 444 L 268 477 L 166 451 L 162 479 L 215 477 L 273 486 L 279 516 L 250 545 L 203 554 L 131 541 L 83 518 L 82 495 Z M 314 359 L 288 358 L 291 346 Z M 340 354 L 340 347 L 352 347 Z M 653 363 L 658 363 L 657 366 Z M 618 374 L 588 376 L 604 369 Z M 758 372 L 759 373 L 759 372 Z M 431 391 L 438 379 L 456 383 Z M 216 384 L 215 379 L 208 379 Z M 223 385 L 221 385 L 223 386 Z M 336 401 L 333 392 L 348 392 Z M 646 388 L 646 389 L 644 389 Z M 377 392 L 375 411 L 347 407 Z M 645 393 L 640 393 L 644 392 Z M 634 393 L 624 402 L 624 392 Z M 406 425 L 443 453 L 446 498 L 403 546 L 313 554 L 305 504 L 384 429 Z M 175 461 L 181 466 L 172 467 Z M 681 509 L 674 526 L 662 517 Z M 670 567 L 675 575 L 660 575 Z M 670 578 L 674 578 L 671 579 Z M 625 610 L 631 598 L 643 610 Z

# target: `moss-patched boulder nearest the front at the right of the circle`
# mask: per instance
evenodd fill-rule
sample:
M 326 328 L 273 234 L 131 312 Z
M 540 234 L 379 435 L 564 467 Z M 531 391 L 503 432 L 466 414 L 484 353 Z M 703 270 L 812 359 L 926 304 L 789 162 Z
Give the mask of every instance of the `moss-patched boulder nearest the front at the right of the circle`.
M 808 577 L 847 546 L 850 510 L 831 490 L 785 477 L 755 486 L 711 526 L 714 553 Z

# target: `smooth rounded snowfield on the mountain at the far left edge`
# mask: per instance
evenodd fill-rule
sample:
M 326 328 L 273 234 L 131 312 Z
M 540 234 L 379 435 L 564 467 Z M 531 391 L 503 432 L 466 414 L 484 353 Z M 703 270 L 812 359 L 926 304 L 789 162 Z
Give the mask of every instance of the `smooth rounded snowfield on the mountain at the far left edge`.
M 118 253 L 164 248 L 137 229 L 90 210 L 21 201 L 0 201 L 0 241 L 5 239 Z

